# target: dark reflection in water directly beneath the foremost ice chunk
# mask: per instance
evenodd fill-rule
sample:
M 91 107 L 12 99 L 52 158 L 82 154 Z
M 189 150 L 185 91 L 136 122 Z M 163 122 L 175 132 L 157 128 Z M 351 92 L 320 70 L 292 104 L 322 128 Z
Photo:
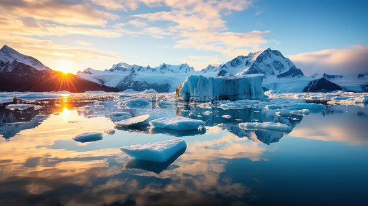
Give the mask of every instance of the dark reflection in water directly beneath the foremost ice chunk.
M 141 159 L 129 159 L 127 163 L 125 163 L 124 168 L 122 170 L 127 169 L 142 169 L 147 170 L 151 172 L 155 172 L 156 174 L 160 174 L 160 172 L 166 170 L 169 165 L 171 165 L 178 157 L 184 154 L 186 148 L 180 150 L 179 152 L 176 152 L 173 157 L 170 157 L 167 161 L 160 163 L 155 161 L 146 161 Z M 176 166 L 174 168 L 178 168 L 179 166 Z M 172 167 L 173 168 L 173 167 Z

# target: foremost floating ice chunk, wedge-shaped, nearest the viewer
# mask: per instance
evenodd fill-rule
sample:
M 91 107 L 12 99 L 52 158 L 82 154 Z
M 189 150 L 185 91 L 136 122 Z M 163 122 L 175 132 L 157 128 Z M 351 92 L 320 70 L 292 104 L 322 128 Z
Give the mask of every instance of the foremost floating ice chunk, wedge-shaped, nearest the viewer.
M 165 162 L 177 152 L 186 148 L 184 139 L 176 138 L 144 145 L 132 145 L 120 148 L 130 159 Z

